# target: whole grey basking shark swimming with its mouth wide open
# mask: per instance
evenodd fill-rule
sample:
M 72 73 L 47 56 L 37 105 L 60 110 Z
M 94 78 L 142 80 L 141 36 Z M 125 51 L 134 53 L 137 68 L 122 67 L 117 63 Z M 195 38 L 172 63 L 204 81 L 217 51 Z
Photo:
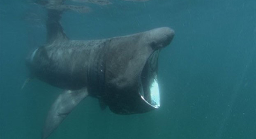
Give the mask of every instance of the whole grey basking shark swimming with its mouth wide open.
M 46 139 L 87 96 L 116 114 L 136 114 L 160 106 L 157 61 L 174 31 L 161 27 L 100 40 L 70 40 L 59 21 L 62 11 L 48 9 L 47 43 L 32 51 L 30 76 L 64 89 L 51 106 L 42 131 Z

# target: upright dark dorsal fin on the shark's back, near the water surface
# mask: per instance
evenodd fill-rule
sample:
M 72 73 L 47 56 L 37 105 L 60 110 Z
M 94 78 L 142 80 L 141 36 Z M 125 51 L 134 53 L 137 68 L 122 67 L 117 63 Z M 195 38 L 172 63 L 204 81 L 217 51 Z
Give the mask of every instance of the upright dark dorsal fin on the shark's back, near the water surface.
M 60 18 L 62 11 L 48 9 L 48 16 L 46 20 L 47 43 L 52 43 L 55 40 L 68 39 L 62 26 L 60 25 Z

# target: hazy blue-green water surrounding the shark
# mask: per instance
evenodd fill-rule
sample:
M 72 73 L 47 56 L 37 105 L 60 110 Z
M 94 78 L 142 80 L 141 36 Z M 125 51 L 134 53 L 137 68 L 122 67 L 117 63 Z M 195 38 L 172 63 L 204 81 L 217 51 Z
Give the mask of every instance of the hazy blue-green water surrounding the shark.
M 103 39 L 171 27 L 159 55 L 161 107 L 101 111 L 86 98 L 48 139 L 256 139 L 256 0 L 111 0 L 67 11 L 70 39 Z M 46 42 L 46 9 L 0 0 L 0 139 L 40 139 L 62 90 L 28 78 L 25 57 Z

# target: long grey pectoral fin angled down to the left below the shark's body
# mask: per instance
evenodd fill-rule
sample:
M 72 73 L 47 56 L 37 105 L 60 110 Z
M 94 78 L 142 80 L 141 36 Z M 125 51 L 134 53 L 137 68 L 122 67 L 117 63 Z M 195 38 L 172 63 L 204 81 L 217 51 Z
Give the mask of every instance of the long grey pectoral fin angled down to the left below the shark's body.
M 46 139 L 56 128 L 58 128 L 66 116 L 86 96 L 88 96 L 87 88 L 77 91 L 64 91 L 64 93 L 60 94 L 48 112 L 42 131 L 42 139 Z

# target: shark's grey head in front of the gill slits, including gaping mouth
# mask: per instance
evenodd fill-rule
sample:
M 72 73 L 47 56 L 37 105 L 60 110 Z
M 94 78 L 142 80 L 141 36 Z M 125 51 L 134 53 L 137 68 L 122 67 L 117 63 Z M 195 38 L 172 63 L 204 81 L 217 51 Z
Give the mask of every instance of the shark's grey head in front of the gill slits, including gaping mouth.
M 111 39 L 105 71 L 106 100 L 111 111 L 134 114 L 160 107 L 158 55 L 173 36 L 172 29 L 161 27 Z

